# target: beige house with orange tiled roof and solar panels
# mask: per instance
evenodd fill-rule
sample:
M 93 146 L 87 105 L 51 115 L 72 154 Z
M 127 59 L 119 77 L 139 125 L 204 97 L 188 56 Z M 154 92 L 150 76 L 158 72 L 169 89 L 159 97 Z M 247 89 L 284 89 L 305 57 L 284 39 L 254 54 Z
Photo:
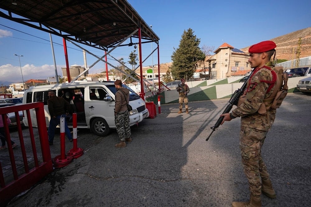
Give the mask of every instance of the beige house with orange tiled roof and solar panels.
M 210 79 L 244 76 L 251 70 L 248 62 L 249 55 L 227 43 L 223 43 L 214 53 L 207 60 Z

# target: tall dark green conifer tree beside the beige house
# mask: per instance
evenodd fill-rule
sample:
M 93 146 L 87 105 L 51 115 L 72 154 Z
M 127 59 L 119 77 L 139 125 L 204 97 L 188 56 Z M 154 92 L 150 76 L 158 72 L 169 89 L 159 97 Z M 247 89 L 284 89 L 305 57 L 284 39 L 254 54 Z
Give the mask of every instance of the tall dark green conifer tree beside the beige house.
M 170 69 L 175 79 L 193 77 L 197 62 L 203 59 L 203 52 L 199 47 L 200 39 L 193 33 L 191 28 L 184 30 L 179 48 L 174 48 L 175 51 L 171 56 L 173 63 Z

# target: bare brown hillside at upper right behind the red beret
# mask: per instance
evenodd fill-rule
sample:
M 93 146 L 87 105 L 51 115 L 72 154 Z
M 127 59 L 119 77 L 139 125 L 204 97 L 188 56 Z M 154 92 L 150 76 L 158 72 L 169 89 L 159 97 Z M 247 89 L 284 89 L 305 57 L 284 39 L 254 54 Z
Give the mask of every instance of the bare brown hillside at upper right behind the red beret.
M 300 29 L 295 32 L 282 35 L 271 39 L 276 43 L 276 58 L 277 59 L 296 59 L 296 50 L 298 47 L 298 41 L 301 37 L 300 58 L 311 56 L 311 27 L 306 29 Z M 248 47 L 244 47 L 240 50 L 248 52 Z M 294 48 L 294 57 L 293 57 Z

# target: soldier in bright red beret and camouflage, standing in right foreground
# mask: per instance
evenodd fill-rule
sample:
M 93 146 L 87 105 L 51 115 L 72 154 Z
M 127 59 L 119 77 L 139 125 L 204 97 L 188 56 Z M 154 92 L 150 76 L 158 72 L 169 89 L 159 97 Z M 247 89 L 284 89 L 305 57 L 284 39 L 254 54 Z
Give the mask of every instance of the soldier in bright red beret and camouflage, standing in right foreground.
M 264 99 L 269 98 L 276 86 L 276 78 L 272 74 L 272 55 L 275 57 L 276 44 L 263 41 L 249 47 L 249 63 L 253 73 L 247 80 L 244 91 L 245 101 L 232 110 L 222 114 L 223 124 L 241 117 L 240 150 L 244 173 L 248 179 L 250 200 L 248 202 L 232 202 L 232 206 L 261 206 L 261 193 L 275 198 L 267 167 L 262 160 L 261 147 L 270 130 L 276 115 L 276 109 L 268 109 L 263 114 L 259 109 Z M 273 58 L 274 59 L 274 58 Z M 243 96 L 241 96 L 243 97 Z M 240 102 L 240 101 L 239 101 Z

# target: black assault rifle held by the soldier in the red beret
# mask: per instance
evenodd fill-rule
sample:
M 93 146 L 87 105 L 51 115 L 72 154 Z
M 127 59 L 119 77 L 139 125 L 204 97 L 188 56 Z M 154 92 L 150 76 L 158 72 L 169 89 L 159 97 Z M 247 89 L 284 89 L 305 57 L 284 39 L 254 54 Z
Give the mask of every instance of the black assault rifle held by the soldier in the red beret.
M 249 74 L 248 76 L 248 79 L 249 77 L 251 77 L 251 75 L 253 74 L 254 70 L 251 72 L 251 74 Z M 246 86 L 247 86 L 247 81 L 248 79 L 244 82 L 244 84 L 242 85 L 241 88 L 239 88 L 238 90 L 236 90 L 233 95 L 231 96 L 230 100 L 229 100 L 229 104 L 228 106 L 225 108 L 224 112 L 222 112 L 222 114 L 225 114 L 225 113 L 229 113 L 230 110 L 232 109 L 233 105 L 237 106 L 238 105 L 238 102 L 239 102 L 239 98 L 240 96 L 242 96 Z M 222 120 L 224 119 L 223 116 L 219 117 L 219 119 L 217 120 L 215 126 L 211 127 L 211 129 L 213 130 L 211 133 L 210 133 L 210 136 L 207 137 L 206 141 L 211 137 L 212 133 L 220 126 Z

